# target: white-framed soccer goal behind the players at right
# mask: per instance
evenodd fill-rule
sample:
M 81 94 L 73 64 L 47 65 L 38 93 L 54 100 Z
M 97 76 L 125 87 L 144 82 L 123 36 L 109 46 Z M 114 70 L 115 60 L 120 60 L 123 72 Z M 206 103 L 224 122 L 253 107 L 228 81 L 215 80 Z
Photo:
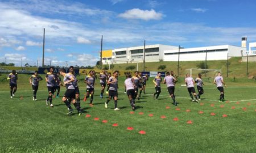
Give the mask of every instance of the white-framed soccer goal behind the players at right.
M 217 73 L 221 70 L 217 69 L 186 69 L 185 73 L 190 74 L 191 77 L 196 77 L 199 73 L 201 73 L 203 76 L 209 76 L 209 77 L 215 77 Z

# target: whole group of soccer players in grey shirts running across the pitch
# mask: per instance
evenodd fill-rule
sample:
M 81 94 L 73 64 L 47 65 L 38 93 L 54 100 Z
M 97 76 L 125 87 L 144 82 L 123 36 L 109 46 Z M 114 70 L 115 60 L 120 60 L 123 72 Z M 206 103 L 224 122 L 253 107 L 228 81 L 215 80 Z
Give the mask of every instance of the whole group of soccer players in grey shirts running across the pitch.
M 61 83 L 60 75 L 64 77 L 63 83 Z M 100 73 L 100 84 L 101 84 L 101 94 L 100 97 L 103 98 L 105 88 L 108 86 L 106 90 L 106 94 L 108 94 L 108 99 L 105 102 L 105 108 L 108 108 L 108 103 L 110 100 L 114 99 L 114 111 L 118 111 L 117 107 L 118 101 L 118 71 L 114 71 L 113 75 L 107 74 L 105 69 L 102 69 Z M 18 75 L 16 71 L 13 70 L 7 77 L 10 79 L 10 94 L 11 98 L 13 98 L 16 90 L 17 90 L 17 82 Z M 97 76 L 95 71 L 90 70 L 89 74 L 85 77 L 84 83 L 86 83 L 86 94 L 84 95 L 84 101 L 86 101 L 90 97 L 90 104 L 93 104 L 93 96 L 94 96 L 94 85 L 96 84 Z M 30 84 L 32 85 L 33 90 L 33 100 L 36 101 L 36 92 L 38 91 L 39 81 L 43 80 L 40 75 L 38 75 L 38 71 L 30 77 Z M 126 75 L 125 80 L 125 93 L 129 99 L 131 109 L 135 110 L 135 101 L 136 99 L 140 99 L 142 91 L 145 94 L 146 82 L 148 80 L 148 75 L 142 76 L 141 72 L 135 71 L 134 76 L 131 74 Z M 57 74 L 53 73 L 53 67 L 50 67 L 49 72 L 46 74 L 46 82 L 48 88 L 48 97 L 46 100 L 46 105 L 50 104 L 50 107 L 53 107 L 52 104 L 52 96 L 57 90 L 56 97 L 59 97 L 60 86 L 65 86 L 66 91 L 62 98 L 62 101 L 67 105 L 69 112 L 67 114 L 72 114 L 73 109 L 71 107 L 71 103 L 75 106 L 77 111 L 79 112 L 79 116 L 81 115 L 81 107 L 80 107 L 80 91 L 78 83 L 79 80 L 76 78 L 76 74 L 74 71 L 74 67 L 69 67 L 69 73 L 66 72 L 65 69 L 61 69 Z M 176 77 L 174 76 L 174 71 L 167 72 L 166 76 L 162 81 L 161 73 L 154 78 L 153 83 L 155 85 L 155 93 L 153 94 L 154 99 L 158 99 L 161 92 L 161 83 L 167 85 L 167 90 L 170 94 L 171 99 L 173 100 L 173 104 L 177 105 L 177 101 L 175 99 L 175 84 L 177 82 Z M 194 84 L 197 84 L 198 94 L 196 94 Z M 217 85 L 217 89 L 220 91 L 220 101 L 224 101 L 224 88 L 225 85 L 224 80 L 221 76 L 221 73 L 218 73 L 216 78 L 214 79 L 214 84 Z M 204 94 L 203 89 L 203 80 L 201 79 L 201 74 L 194 80 L 189 74 L 186 74 L 185 84 L 187 85 L 189 95 L 192 101 L 196 101 L 199 103 L 201 95 Z M 156 96 L 156 97 L 155 97 Z M 195 97 L 195 99 L 194 99 Z

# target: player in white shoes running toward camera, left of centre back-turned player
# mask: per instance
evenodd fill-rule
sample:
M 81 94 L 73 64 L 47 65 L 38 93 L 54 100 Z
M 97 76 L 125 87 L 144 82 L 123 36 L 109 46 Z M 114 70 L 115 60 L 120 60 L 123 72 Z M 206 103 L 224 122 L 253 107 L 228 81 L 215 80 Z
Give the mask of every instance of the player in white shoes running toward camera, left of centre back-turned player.
M 115 109 L 114 111 L 119 111 L 120 109 L 117 108 L 117 97 L 118 97 L 118 71 L 114 71 L 113 76 L 111 76 L 108 80 L 109 84 L 109 97 L 105 102 L 105 108 L 108 108 L 108 103 L 109 101 L 113 98 L 114 99 L 114 104 L 115 104 Z

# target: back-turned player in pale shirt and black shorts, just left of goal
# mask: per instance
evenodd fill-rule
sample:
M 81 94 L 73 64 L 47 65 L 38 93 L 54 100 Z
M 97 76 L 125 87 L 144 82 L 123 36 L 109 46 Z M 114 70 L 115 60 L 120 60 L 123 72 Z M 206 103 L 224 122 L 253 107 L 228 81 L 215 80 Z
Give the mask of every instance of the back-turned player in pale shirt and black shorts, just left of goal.
M 170 94 L 170 97 L 172 98 L 172 100 L 174 101 L 174 105 L 177 105 L 177 102 L 175 100 L 175 95 L 174 95 L 174 91 L 175 91 L 175 83 L 177 82 L 177 80 L 174 78 L 174 71 L 171 71 L 171 75 L 170 72 L 166 73 L 166 77 L 164 77 L 163 83 L 166 83 L 167 86 L 167 90 Z

